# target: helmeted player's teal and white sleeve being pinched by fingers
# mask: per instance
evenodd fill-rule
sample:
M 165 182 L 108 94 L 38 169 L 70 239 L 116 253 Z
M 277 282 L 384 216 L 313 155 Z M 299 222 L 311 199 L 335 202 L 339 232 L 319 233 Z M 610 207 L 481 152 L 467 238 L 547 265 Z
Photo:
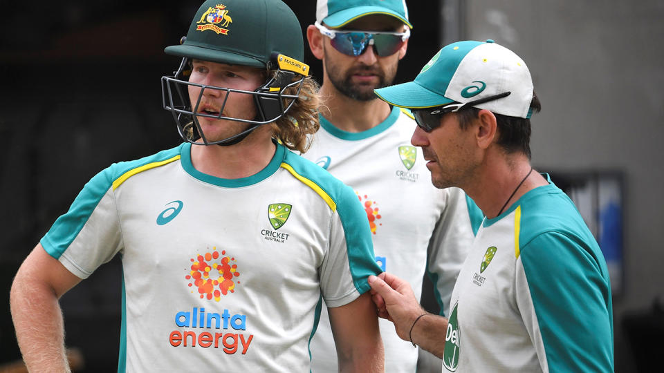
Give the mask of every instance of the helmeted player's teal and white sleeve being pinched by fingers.
M 370 289 L 367 278 L 380 274 L 367 214 L 350 187 L 343 188 L 332 216 L 329 248 L 320 271 L 328 307 L 352 302 Z

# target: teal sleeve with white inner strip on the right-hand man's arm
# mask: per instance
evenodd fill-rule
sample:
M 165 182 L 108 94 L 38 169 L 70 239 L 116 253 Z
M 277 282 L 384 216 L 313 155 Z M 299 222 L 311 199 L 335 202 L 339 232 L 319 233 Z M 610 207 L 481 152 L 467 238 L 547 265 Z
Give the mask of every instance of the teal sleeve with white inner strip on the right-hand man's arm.
M 614 370 L 611 287 L 593 253 L 578 238 L 548 232 L 517 258 L 517 307 L 544 372 Z

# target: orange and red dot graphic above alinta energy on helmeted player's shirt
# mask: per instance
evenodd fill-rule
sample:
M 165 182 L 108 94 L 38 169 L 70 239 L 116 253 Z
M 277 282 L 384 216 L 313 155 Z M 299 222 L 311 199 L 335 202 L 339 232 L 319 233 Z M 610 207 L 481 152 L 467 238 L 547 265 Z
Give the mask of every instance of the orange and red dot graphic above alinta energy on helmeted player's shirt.
M 220 254 L 216 247 L 213 247 L 211 252 L 190 259 L 192 266 L 187 270 L 189 274 L 185 278 L 189 280 L 190 287 L 197 289 L 201 299 L 214 298 L 219 302 L 221 295 L 234 293 L 235 285 L 240 283 L 237 280 L 240 276 L 237 264 L 233 263 L 235 258 L 225 255 L 225 250 Z M 196 290 L 192 290 L 192 293 L 194 291 Z

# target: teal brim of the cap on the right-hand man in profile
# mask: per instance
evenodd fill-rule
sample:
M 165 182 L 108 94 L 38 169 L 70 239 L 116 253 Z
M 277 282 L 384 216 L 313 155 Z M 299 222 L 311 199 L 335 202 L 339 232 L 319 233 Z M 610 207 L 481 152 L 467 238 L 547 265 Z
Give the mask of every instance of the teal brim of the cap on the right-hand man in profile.
M 378 98 L 402 108 L 432 108 L 449 104 L 454 100 L 434 93 L 416 82 L 396 84 L 374 90 Z

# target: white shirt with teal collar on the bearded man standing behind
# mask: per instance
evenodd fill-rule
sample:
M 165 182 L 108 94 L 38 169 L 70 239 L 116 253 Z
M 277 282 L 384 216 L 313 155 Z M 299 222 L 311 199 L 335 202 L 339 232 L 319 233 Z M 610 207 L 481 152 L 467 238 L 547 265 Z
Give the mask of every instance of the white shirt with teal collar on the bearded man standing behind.
M 461 189 L 432 185 L 421 149 L 410 144 L 416 124 L 409 115 L 393 108 L 385 121 L 360 133 L 341 131 L 321 117 L 321 129 L 303 156 L 355 190 L 369 220 L 376 262 L 407 280 L 418 298 L 428 259 L 436 298 L 447 311 L 472 243 L 470 200 Z M 472 211 L 481 214 L 477 207 Z M 479 228 L 481 216 L 473 218 Z M 380 334 L 386 372 L 415 372 L 417 349 L 401 340 L 389 321 L 380 319 Z M 311 355 L 313 372 L 338 371 L 326 309 L 311 341 Z

